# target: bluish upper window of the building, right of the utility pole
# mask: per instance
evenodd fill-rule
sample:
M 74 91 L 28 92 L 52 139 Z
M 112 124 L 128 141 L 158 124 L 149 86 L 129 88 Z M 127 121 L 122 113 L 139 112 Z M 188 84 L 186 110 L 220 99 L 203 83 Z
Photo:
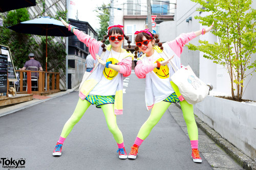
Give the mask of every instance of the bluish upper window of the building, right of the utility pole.
M 169 1 L 153 1 L 152 13 L 158 15 L 169 15 Z

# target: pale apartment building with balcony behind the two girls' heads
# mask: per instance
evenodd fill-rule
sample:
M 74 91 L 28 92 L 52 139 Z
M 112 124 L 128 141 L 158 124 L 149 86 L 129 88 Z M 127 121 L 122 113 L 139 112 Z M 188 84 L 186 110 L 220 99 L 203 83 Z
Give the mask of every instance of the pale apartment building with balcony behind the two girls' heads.
M 114 7 L 114 25 L 123 25 L 124 34 L 130 37 L 132 49 L 135 47 L 135 35 L 138 30 L 147 28 L 147 1 L 134 0 L 113 2 Z M 152 15 L 157 15 L 155 22 L 156 27 L 153 32 L 160 34 L 160 23 L 174 20 L 176 8 L 175 1 L 151 1 Z M 151 18 L 150 18 L 151 19 Z M 124 48 L 127 43 L 124 42 Z

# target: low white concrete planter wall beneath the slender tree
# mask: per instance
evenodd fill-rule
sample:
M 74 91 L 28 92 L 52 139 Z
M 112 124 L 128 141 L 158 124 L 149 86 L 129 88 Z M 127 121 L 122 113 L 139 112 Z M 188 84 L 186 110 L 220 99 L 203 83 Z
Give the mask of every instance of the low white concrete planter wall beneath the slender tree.
M 195 114 L 223 138 L 256 160 L 256 105 L 208 95 Z

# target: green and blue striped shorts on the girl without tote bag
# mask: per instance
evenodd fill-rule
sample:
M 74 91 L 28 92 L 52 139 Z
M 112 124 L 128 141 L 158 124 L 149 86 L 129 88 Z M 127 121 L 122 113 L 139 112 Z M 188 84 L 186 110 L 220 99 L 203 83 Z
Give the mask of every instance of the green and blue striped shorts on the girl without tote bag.
M 86 100 L 90 102 L 92 105 L 96 105 L 97 108 L 100 108 L 100 105 L 104 104 L 114 104 L 115 95 L 88 95 Z

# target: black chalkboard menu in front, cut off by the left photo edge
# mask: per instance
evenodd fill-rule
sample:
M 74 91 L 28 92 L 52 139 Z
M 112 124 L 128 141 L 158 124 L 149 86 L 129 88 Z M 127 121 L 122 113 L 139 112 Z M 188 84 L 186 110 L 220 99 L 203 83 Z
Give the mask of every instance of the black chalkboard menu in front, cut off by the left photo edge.
M 0 93 L 7 92 L 8 56 L 0 54 Z

